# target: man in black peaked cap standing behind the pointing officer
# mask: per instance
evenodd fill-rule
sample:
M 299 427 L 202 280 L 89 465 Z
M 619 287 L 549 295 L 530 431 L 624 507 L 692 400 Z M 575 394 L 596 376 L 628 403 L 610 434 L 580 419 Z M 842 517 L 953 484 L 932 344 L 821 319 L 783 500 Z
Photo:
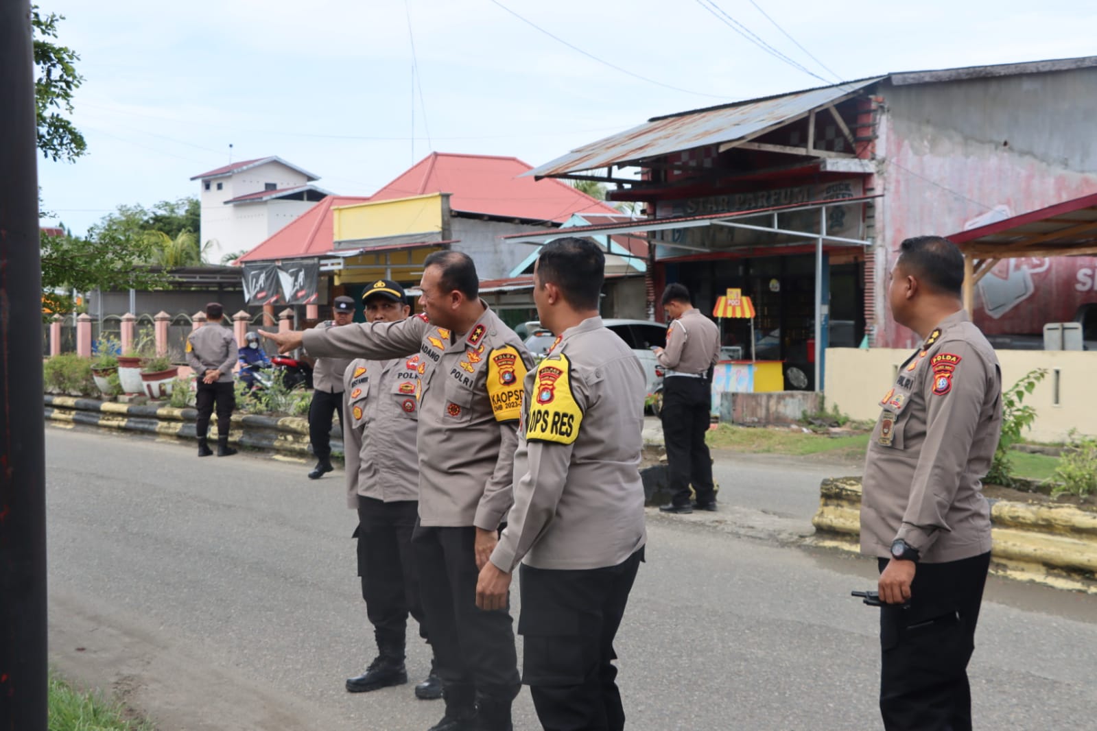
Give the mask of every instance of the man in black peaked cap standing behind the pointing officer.
M 404 287 L 391 279 L 366 289 L 362 304 L 366 322 L 397 322 L 410 313 Z M 404 649 L 409 614 L 419 623 L 419 636 L 427 639 L 411 556 L 411 530 L 419 513 L 419 461 L 412 448 L 419 416 L 418 367 L 418 355 L 358 358 L 343 376 L 347 500 L 358 511 L 358 574 L 377 643 L 377 656 L 366 671 L 347 679 L 351 693 L 407 683 Z M 442 697 L 433 664 L 415 694 L 425 700 Z

